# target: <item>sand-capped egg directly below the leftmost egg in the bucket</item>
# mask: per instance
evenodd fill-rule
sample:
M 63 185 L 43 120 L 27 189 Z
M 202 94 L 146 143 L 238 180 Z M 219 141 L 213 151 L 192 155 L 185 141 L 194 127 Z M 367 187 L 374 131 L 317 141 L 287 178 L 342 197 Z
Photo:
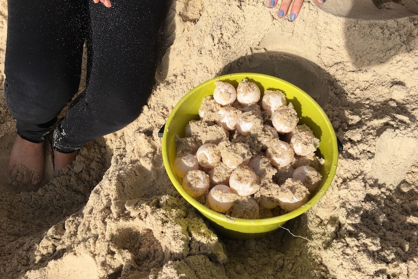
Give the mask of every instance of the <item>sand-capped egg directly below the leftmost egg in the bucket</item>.
M 209 190 L 209 175 L 201 170 L 189 170 L 183 178 L 182 186 L 190 196 L 201 197 Z

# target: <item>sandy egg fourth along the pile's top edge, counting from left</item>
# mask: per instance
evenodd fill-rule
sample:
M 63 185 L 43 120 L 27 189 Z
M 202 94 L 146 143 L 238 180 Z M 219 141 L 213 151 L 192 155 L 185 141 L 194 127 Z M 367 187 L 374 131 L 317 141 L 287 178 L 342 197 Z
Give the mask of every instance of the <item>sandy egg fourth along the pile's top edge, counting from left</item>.
M 280 107 L 272 115 L 273 127 L 279 133 L 289 133 L 293 131 L 299 122 L 299 117 L 292 103 L 286 107 Z

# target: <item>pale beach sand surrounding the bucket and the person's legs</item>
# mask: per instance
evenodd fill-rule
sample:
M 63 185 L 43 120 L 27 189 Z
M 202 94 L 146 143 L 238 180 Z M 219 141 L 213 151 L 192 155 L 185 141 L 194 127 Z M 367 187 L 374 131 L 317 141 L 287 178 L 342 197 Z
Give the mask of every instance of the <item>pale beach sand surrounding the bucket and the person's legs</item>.
M 5 171 L 15 121 L 0 0 L 1 278 L 418 278 L 417 13 L 417 0 L 311 0 L 291 22 L 261 0 L 176 0 L 144 112 L 55 177 L 47 148 L 45 180 L 22 188 Z M 316 205 L 245 241 L 217 234 L 177 193 L 158 137 L 189 90 L 234 72 L 301 87 L 344 145 Z

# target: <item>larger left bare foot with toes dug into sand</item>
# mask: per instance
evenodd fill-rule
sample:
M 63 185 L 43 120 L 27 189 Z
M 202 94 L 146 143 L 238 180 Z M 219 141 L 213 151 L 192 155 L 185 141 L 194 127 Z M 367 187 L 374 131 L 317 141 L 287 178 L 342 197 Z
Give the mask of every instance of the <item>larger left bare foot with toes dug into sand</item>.
M 44 174 L 44 143 L 32 143 L 16 136 L 7 171 L 19 183 L 41 183 Z

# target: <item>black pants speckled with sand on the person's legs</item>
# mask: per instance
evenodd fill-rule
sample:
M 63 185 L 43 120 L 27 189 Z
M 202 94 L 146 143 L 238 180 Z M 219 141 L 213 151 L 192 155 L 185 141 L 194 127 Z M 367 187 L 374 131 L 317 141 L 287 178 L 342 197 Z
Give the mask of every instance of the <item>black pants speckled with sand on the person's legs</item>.
M 6 102 L 17 133 L 40 143 L 79 89 L 83 44 L 87 84 L 54 132 L 69 153 L 117 131 L 142 111 L 154 83 L 165 0 L 8 0 Z

